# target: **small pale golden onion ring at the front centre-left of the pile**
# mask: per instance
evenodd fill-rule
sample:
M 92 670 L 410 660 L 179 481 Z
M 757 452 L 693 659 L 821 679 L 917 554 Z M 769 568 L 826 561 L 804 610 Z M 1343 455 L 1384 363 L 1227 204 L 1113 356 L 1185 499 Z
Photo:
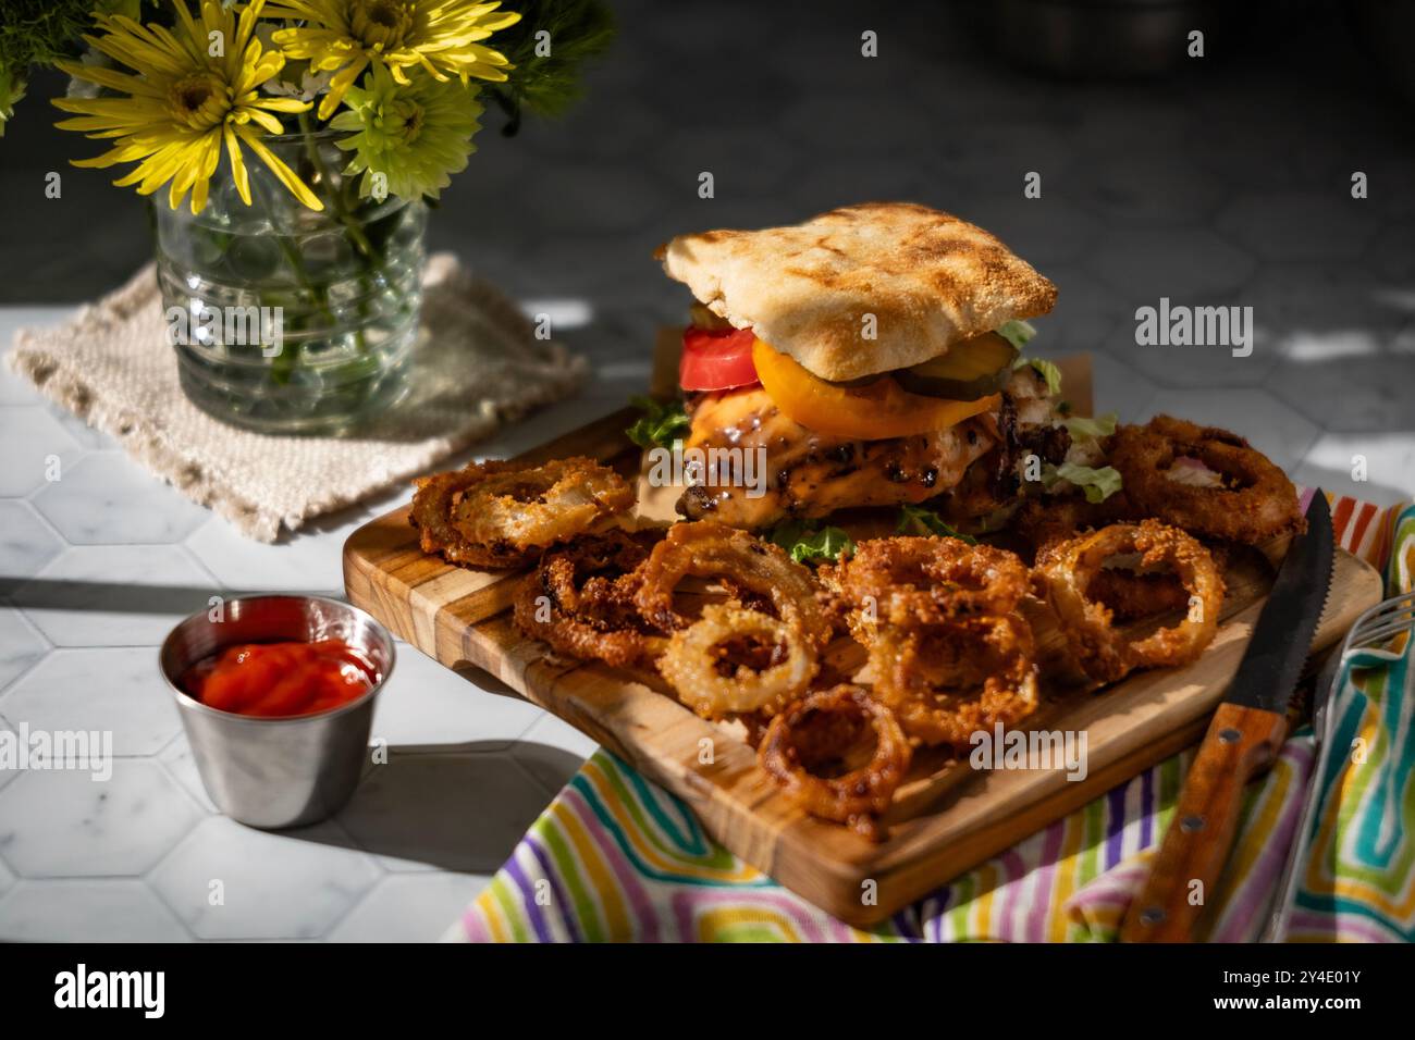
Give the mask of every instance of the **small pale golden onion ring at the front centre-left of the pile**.
M 758 659 L 733 661 L 734 649 L 747 654 L 756 649 Z M 815 678 L 816 652 L 794 624 L 712 603 L 698 621 L 674 632 L 658 658 L 658 671 L 678 699 L 705 719 L 749 712 L 774 715 Z

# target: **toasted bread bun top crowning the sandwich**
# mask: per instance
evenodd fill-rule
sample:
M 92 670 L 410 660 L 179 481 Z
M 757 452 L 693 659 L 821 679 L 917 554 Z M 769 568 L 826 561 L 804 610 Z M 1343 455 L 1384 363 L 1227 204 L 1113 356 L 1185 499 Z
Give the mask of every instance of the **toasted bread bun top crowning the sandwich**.
M 1046 314 L 1057 297 L 982 228 L 913 202 L 679 235 L 657 256 L 715 314 L 835 381 L 937 358 L 1010 318 Z

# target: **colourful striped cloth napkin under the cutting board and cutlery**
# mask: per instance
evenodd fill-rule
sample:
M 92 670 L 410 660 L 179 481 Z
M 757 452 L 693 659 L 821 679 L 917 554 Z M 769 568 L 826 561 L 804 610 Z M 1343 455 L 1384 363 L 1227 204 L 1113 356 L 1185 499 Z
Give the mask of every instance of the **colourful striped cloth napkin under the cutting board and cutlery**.
M 1303 494 L 1303 508 L 1310 492 Z M 1409 589 L 1415 507 L 1332 502 L 1337 539 Z M 1392 549 L 1394 546 L 1394 549 Z M 1363 764 L 1332 756 L 1316 850 L 1293 938 L 1412 938 L 1415 669 L 1357 671 L 1333 703 L 1337 743 L 1367 737 Z M 1401 696 L 1404 692 L 1405 696 Z M 1344 741 L 1344 743 L 1343 743 Z M 811 906 L 712 840 L 674 795 L 596 753 L 467 908 L 453 941 L 1108 941 L 1165 833 L 1193 758 L 1184 751 L 1056 821 L 870 930 Z M 1210 938 L 1257 938 L 1302 812 L 1310 729 L 1245 795 Z

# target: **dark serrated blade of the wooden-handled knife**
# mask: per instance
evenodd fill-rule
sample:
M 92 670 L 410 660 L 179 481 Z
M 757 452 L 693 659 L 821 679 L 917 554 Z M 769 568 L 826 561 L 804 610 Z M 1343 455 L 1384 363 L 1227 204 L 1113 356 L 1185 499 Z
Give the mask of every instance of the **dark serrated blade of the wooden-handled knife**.
M 1288 710 L 1332 589 L 1334 555 L 1332 508 L 1317 490 L 1307 507 L 1306 533 L 1293 536 L 1288 546 L 1248 651 L 1224 695 L 1227 703 L 1279 715 Z

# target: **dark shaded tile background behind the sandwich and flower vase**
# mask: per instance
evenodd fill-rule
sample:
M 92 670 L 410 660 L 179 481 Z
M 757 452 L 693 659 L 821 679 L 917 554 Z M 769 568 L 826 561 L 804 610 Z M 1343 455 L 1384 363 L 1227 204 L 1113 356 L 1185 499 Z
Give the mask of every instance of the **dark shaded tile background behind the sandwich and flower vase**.
M 1218 422 L 1299 480 L 1415 494 L 1415 3 L 613 6 L 583 103 L 511 140 L 488 113 L 430 232 L 521 297 L 587 300 L 567 338 L 604 381 L 641 382 L 654 327 L 683 311 L 651 258 L 674 233 L 916 200 L 1056 282 L 1037 349 L 1092 351 L 1101 409 Z M 52 129 L 62 89 L 37 79 L 0 139 L 0 303 L 91 299 L 151 252 L 144 202 L 67 164 L 102 146 Z M 1252 357 L 1136 347 L 1135 308 L 1160 296 L 1251 304 Z

